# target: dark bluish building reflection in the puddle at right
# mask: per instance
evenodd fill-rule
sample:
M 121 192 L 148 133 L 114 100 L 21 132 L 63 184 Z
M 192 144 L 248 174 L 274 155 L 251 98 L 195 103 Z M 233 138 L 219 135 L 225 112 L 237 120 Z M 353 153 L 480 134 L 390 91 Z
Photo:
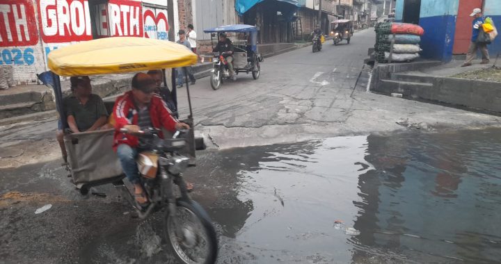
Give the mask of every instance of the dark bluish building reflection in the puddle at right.
M 501 140 L 477 132 L 369 136 L 357 242 L 427 263 L 499 261 L 501 196 L 485 190 L 499 190 Z

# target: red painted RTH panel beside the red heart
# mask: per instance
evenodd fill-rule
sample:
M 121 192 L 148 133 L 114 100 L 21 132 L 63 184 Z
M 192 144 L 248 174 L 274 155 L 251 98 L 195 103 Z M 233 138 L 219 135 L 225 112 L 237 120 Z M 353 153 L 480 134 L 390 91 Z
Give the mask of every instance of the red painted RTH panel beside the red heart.
M 109 30 L 112 37 L 143 37 L 143 10 L 141 2 L 110 0 L 108 12 Z

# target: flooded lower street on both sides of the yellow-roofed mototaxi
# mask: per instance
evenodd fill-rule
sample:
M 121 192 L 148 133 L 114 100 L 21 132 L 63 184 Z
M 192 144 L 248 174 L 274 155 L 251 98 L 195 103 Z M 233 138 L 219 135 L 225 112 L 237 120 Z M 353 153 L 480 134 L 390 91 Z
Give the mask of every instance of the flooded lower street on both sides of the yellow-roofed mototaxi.
M 216 225 L 219 263 L 498 263 L 500 132 L 207 151 L 186 179 Z M 112 187 L 95 188 L 106 198 L 81 197 L 56 163 L 3 172 L 17 181 L 2 176 L 1 195 L 43 192 L 53 205 L 40 215 L 43 204 L 0 206 L 0 228 L 17 226 L 0 235 L 5 263 L 175 263 L 162 214 L 129 217 Z

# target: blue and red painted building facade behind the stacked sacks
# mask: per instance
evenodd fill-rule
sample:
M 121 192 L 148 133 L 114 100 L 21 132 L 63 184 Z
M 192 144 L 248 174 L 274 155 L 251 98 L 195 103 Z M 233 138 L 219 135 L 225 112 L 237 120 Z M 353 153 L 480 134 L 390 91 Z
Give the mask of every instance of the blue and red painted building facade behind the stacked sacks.
M 447 62 L 468 51 L 473 8 L 482 8 L 486 17 L 493 18 L 498 31 L 501 29 L 499 0 L 397 0 L 395 20 L 422 26 L 422 57 Z M 497 56 L 501 52 L 500 38 L 488 49 Z

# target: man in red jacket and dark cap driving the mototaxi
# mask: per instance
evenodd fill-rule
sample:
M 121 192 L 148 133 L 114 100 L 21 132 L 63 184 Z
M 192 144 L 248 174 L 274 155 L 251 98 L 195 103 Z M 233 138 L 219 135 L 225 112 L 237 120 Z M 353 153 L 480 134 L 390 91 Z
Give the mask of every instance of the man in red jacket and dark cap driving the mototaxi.
M 127 179 L 134 185 L 134 196 L 138 204 L 145 204 L 145 196 L 138 176 L 136 165 L 137 147 L 141 138 L 130 133 L 137 133 L 149 127 L 176 131 L 189 129 L 184 123 L 177 122 L 166 103 L 154 91 L 157 84 L 148 74 L 138 73 L 132 78 L 132 90 L 118 97 L 113 106 L 115 116 L 115 135 L 113 149 L 116 150 L 122 169 Z M 129 133 L 120 133 L 125 128 Z

